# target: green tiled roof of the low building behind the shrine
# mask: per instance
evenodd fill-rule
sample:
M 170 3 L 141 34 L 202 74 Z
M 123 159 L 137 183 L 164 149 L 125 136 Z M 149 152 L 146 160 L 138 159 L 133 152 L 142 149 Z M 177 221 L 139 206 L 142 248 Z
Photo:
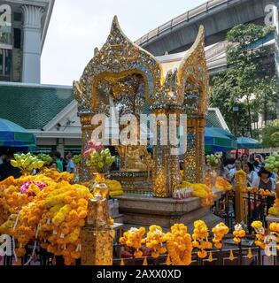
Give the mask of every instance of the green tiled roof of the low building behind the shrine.
M 74 101 L 72 87 L 0 83 L 0 117 L 27 129 L 41 130 Z M 149 113 L 149 105 L 145 104 Z M 206 126 L 228 129 L 221 112 L 209 108 Z

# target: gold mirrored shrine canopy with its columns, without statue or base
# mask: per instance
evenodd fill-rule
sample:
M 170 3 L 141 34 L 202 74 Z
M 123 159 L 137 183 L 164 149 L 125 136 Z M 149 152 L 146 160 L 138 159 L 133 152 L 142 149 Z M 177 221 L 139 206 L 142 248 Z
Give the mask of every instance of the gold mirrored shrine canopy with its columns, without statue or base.
M 191 176 L 190 180 L 194 180 L 196 176 L 196 181 L 202 181 L 205 112 L 210 96 L 204 47 L 205 29 L 201 26 L 196 42 L 178 68 L 163 73 L 155 57 L 123 34 L 115 16 L 105 45 L 89 61 L 81 79 L 74 81 L 74 96 L 81 117 L 82 151 L 86 150 L 91 138 L 93 115 L 105 113 L 109 116 L 112 106 L 120 110 L 120 117 L 131 113 L 138 118 L 144 107 L 151 107 L 156 115 L 187 113 L 190 143 L 184 155 L 184 177 Z M 153 193 L 168 197 L 178 182 L 179 159 L 170 155 L 170 146 L 154 148 Z M 133 152 L 125 156 L 133 157 Z M 82 166 L 86 180 L 89 170 L 85 162 Z M 156 187 L 159 187 L 159 194 L 156 194 Z

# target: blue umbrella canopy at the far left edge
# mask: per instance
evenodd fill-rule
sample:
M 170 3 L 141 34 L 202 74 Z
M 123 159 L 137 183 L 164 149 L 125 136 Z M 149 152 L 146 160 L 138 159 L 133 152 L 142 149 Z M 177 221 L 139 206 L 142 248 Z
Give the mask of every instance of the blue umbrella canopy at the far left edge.
M 1 147 L 35 147 L 35 135 L 9 120 L 0 119 Z

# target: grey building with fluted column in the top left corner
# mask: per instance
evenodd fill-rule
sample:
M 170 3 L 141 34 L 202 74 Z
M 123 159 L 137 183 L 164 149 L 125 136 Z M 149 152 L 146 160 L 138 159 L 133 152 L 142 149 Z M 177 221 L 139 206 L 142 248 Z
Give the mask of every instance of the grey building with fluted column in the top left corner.
M 40 83 L 54 0 L 0 2 L 0 80 Z

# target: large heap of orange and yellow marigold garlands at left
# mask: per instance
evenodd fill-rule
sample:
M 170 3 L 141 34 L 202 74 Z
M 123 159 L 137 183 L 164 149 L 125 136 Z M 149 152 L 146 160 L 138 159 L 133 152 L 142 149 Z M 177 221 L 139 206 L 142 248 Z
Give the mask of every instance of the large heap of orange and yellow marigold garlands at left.
M 49 177 L 28 175 L 0 183 L 0 233 L 14 237 L 19 257 L 29 241 L 40 241 L 42 248 L 73 264 L 81 256 L 80 231 L 92 195 L 88 187 L 67 181 L 72 174 L 44 172 Z

